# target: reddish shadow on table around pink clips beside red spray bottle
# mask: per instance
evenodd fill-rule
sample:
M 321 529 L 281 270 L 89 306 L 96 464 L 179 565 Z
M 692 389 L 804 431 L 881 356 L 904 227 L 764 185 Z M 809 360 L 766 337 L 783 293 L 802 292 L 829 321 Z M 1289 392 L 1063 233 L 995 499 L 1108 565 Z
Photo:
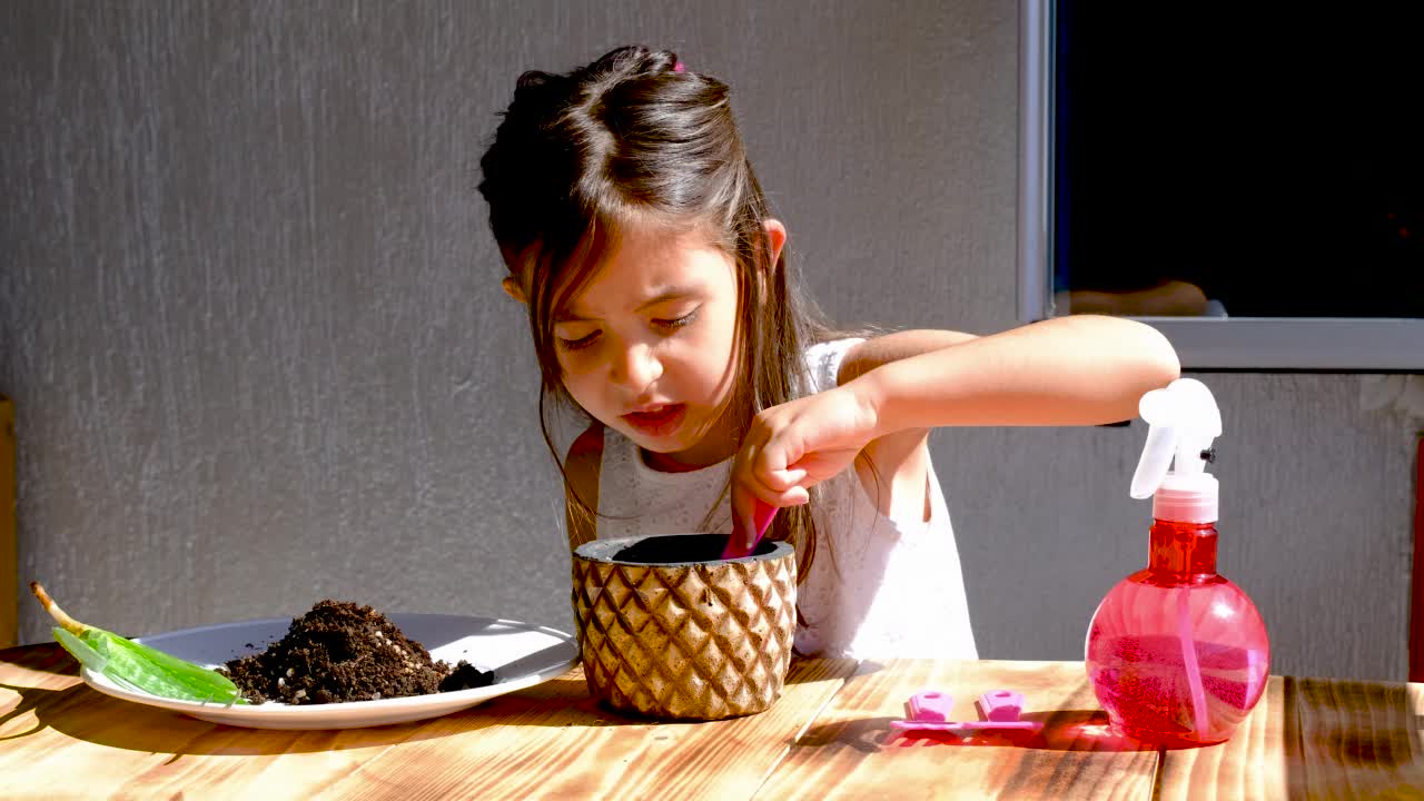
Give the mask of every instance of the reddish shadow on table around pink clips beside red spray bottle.
M 849 745 L 857 751 L 876 753 L 883 748 L 926 747 L 997 747 L 1032 748 L 1040 751 L 1156 751 L 1136 740 L 1114 734 L 1108 714 L 1101 710 L 1062 710 L 1055 713 L 1025 713 L 1022 720 L 1042 721 L 1038 731 L 900 731 L 890 727 L 891 717 L 871 717 L 854 721 L 813 725 L 796 743 L 802 747 Z

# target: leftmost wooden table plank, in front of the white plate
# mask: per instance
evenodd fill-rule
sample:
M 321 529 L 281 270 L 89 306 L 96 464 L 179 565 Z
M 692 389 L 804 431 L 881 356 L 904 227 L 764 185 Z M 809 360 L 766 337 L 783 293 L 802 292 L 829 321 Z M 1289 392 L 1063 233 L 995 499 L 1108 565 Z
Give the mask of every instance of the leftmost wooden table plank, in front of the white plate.
M 0 651 L 0 798 L 310 798 L 430 725 L 218 725 L 90 690 L 58 646 Z

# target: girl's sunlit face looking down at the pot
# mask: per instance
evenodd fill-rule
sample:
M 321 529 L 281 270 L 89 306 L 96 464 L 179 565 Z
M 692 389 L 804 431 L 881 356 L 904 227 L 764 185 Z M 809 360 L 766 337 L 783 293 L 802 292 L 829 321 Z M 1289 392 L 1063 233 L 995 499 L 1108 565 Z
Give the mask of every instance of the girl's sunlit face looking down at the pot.
M 705 235 L 624 231 L 555 316 L 564 388 L 659 462 L 726 459 L 736 295 L 735 261 Z

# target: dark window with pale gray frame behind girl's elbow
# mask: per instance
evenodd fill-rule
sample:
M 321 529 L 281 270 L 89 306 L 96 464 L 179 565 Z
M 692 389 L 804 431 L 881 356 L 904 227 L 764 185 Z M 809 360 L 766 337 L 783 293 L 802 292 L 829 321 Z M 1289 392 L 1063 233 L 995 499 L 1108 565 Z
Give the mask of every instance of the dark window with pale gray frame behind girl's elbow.
M 1142 319 L 1188 369 L 1424 372 L 1417 6 L 1024 0 L 1020 315 Z

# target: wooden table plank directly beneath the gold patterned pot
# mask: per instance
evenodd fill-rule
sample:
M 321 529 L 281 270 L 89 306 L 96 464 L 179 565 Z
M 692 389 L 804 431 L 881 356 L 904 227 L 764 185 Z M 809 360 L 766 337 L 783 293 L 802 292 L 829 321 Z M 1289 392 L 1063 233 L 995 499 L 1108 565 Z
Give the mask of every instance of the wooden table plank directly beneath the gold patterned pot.
M 772 708 L 708 723 L 621 717 L 575 668 L 434 721 L 319 798 L 749 798 L 854 668 L 796 660 Z

